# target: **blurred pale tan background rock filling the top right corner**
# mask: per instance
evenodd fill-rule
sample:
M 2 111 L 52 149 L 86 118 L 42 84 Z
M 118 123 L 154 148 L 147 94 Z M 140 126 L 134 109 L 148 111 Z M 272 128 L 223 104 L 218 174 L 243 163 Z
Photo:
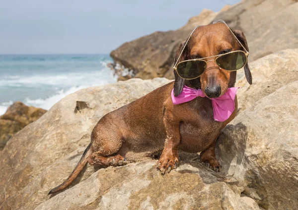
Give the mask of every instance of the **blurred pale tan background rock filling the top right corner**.
M 219 13 L 233 29 L 244 32 L 249 60 L 253 61 L 276 51 L 298 48 L 297 0 L 243 0 Z

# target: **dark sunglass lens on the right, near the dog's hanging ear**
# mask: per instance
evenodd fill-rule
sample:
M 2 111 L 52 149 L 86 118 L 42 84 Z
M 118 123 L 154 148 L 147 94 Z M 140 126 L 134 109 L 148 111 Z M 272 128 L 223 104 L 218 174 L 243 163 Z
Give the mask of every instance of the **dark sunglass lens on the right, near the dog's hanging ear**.
M 231 52 L 216 59 L 216 63 L 224 70 L 233 71 L 242 68 L 246 63 L 244 52 Z

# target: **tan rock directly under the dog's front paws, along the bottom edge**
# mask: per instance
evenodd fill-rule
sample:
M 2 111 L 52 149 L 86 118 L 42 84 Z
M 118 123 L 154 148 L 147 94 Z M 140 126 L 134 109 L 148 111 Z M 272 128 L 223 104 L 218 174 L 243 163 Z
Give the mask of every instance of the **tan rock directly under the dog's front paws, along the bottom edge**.
M 198 162 L 182 163 L 164 176 L 155 162 L 100 169 L 35 210 L 259 210 Z

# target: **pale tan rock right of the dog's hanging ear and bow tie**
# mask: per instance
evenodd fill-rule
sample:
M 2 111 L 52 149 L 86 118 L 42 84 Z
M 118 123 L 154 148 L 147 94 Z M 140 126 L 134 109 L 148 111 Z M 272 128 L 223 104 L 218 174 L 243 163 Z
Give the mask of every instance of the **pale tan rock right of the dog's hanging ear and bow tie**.
M 273 93 L 286 84 L 298 80 L 298 49 L 275 52 L 250 64 L 252 85 L 246 81 L 243 71 L 239 70 L 240 79 L 235 87 L 238 108 L 245 110 L 256 101 Z M 242 75 L 242 77 L 241 77 Z

